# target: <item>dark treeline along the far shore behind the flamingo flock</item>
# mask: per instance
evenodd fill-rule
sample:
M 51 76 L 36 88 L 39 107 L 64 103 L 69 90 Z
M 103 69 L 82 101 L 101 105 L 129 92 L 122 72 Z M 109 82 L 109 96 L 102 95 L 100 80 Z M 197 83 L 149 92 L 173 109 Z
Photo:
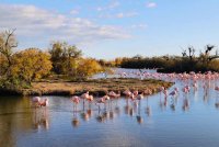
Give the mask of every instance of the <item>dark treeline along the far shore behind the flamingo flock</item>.
M 110 61 L 101 60 L 101 65 L 115 66 L 122 68 L 157 68 L 160 72 L 205 72 L 205 71 L 219 71 L 219 56 L 215 46 L 207 45 L 199 56 L 195 56 L 196 49 L 188 47 L 183 50 L 182 56 L 160 56 L 160 57 L 142 57 L 140 55 L 131 58 L 116 58 Z

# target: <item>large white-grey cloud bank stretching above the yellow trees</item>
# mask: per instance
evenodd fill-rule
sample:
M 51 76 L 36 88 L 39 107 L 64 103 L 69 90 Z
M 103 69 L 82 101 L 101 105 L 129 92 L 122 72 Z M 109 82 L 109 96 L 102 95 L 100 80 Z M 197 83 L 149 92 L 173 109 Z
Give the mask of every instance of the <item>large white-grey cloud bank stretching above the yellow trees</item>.
M 66 39 L 91 43 L 130 37 L 123 29 L 114 25 L 97 25 L 87 19 L 67 16 L 34 5 L 0 4 L 0 31 L 16 29 L 19 37 L 31 37 L 32 42 L 45 38 L 45 42 Z

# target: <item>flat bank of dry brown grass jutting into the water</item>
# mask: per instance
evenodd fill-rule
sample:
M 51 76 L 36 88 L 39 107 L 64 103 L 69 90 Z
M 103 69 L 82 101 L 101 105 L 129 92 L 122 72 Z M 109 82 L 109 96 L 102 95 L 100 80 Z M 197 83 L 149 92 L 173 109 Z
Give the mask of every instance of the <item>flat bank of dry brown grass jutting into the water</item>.
M 89 90 L 91 94 L 104 95 L 108 91 L 125 91 L 138 90 L 146 91 L 151 90 L 152 93 L 158 92 L 158 88 L 163 86 L 165 88 L 171 87 L 173 83 L 164 82 L 161 80 L 138 80 L 138 79 L 96 79 L 81 82 L 73 81 L 42 81 L 33 82 L 33 87 L 22 90 L 0 90 L 0 93 L 4 94 L 23 94 L 23 95 L 73 95 L 81 94 Z

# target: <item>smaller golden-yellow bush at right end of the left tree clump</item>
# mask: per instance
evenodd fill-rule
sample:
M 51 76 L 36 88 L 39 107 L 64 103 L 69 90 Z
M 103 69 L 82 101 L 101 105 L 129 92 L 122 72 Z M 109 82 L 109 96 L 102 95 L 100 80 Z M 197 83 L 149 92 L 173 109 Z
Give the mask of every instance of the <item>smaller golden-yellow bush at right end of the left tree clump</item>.
M 78 66 L 78 74 L 83 78 L 89 78 L 102 70 L 101 65 L 92 58 L 81 59 Z

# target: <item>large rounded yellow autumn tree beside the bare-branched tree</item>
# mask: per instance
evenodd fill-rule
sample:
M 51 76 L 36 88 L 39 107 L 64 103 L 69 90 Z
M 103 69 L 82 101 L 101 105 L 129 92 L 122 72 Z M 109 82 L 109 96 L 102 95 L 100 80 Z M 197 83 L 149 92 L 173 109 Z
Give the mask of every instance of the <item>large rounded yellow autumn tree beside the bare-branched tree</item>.
M 48 75 L 50 69 L 50 55 L 37 48 L 19 52 L 13 57 L 13 76 L 28 83 Z

